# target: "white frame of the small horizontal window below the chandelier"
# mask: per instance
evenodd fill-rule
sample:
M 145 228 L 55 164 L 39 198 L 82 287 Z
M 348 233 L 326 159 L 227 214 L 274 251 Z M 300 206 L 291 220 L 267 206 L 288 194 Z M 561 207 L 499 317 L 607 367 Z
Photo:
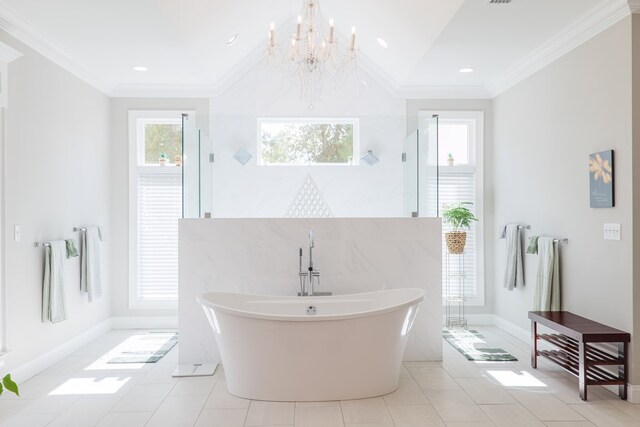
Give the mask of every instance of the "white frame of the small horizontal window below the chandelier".
M 296 124 L 350 124 L 353 126 L 353 153 L 351 162 L 347 163 L 264 163 L 262 161 L 262 125 L 264 123 L 296 123 Z M 360 164 L 360 119 L 357 118 L 287 118 L 287 117 L 260 117 L 257 124 L 257 148 L 256 148 L 256 164 L 258 166 L 289 166 L 289 167 L 325 167 L 325 166 L 358 166 Z

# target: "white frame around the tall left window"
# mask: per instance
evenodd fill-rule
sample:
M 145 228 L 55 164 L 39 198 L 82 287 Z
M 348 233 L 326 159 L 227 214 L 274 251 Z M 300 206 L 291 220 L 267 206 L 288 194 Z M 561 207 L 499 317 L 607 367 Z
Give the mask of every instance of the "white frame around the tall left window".
M 164 301 L 149 301 L 138 299 L 138 173 L 140 170 L 162 171 L 167 174 L 181 174 L 181 168 L 162 167 L 160 165 L 144 165 L 139 160 L 144 159 L 143 130 L 139 123 L 182 124 L 182 115 L 194 115 L 193 111 L 129 111 L 129 308 L 130 309 L 177 309 L 178 299 Z M 142 144 L 139 142 L 142 141 Z M 160 169 L 162 168 L 162 169 Z

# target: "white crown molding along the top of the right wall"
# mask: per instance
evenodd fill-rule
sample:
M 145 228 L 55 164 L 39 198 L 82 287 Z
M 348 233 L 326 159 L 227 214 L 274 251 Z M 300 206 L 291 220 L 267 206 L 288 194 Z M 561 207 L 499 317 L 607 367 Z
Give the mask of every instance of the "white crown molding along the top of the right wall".
M 586 14 L 557 37 L 533 51 L 505 74 L 490 82 L 486 86 L 490 97 L 494 98 L 512 88 L 628 16 L 632 2 L 640 4 L 639 0 L 629 0 L 629 3 L 620 0 L 608 1 Z

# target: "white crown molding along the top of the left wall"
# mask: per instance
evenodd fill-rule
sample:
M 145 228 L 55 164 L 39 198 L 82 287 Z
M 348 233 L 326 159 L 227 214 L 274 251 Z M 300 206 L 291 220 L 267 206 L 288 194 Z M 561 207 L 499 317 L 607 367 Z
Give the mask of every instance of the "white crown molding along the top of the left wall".
M 40 33 L 33 25 L 26 22 L 20 15 L 0 0 L 0 29 L 6 31 L 20 42 L 29 46 L 42 56 L 64 68 L 80 80 L 98 89 L 105 95 L 110 95 L 114 85 L 101 76 L 95 75 L 87 67 L 73 59 L 62 48 L 54 44 L 48 37 Z

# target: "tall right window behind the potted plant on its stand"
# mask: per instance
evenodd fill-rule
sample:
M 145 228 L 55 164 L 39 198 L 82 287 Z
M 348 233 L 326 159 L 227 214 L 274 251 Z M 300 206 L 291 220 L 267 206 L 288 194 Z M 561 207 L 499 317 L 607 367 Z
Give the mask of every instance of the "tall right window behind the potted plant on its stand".
M 427 113 L 424 113 L 427 114 Z M 464 292 L 467 304 L 484 305 L 484 248 L 482 147 L 484 114 L 482 112 L 429 112 L 438 114 L 438 190 L 440 212 L 443 205 L 472 202 L 469 209 L 479 219 L 467 231 L 464 255 Z M 453 160 L 451 160 L 453 159 Z M 450 231 L 443 224 L 443 233 Z M 442 253 L 446 256 L 446 244 Z M 446 267 L 443 258 L 443 275 Z M 444 283 L 443 283 L 444 286 Z M 443 287 L 443 296 L 446 289 Z

